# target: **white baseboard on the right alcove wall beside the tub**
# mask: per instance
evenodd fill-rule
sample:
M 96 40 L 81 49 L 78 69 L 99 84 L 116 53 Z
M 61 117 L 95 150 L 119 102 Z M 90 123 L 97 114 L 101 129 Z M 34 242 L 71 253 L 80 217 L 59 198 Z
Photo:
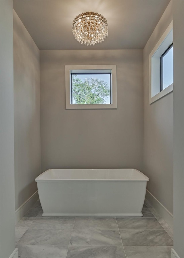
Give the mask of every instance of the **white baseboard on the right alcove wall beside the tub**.
M 158 215 L 160 215 L 160 217 L 162 217 L 162 219 L 164 219 L 164 221 L 166 221 L 166 223 L 169 225 L 169 227 L 171 229 L 173 229 L 173 214 L 170 213 L 170 211 L 168 211 L 166 209 L 166 207 L 164 207 L 163 204 L 161 204 L 149 191 L 146 190 L 146 197 L 145 197 L 148 202 L 150 202 L 150 204 L 153 206 L 153 208 L 156 210 L 156 212 L 158 213 Z

